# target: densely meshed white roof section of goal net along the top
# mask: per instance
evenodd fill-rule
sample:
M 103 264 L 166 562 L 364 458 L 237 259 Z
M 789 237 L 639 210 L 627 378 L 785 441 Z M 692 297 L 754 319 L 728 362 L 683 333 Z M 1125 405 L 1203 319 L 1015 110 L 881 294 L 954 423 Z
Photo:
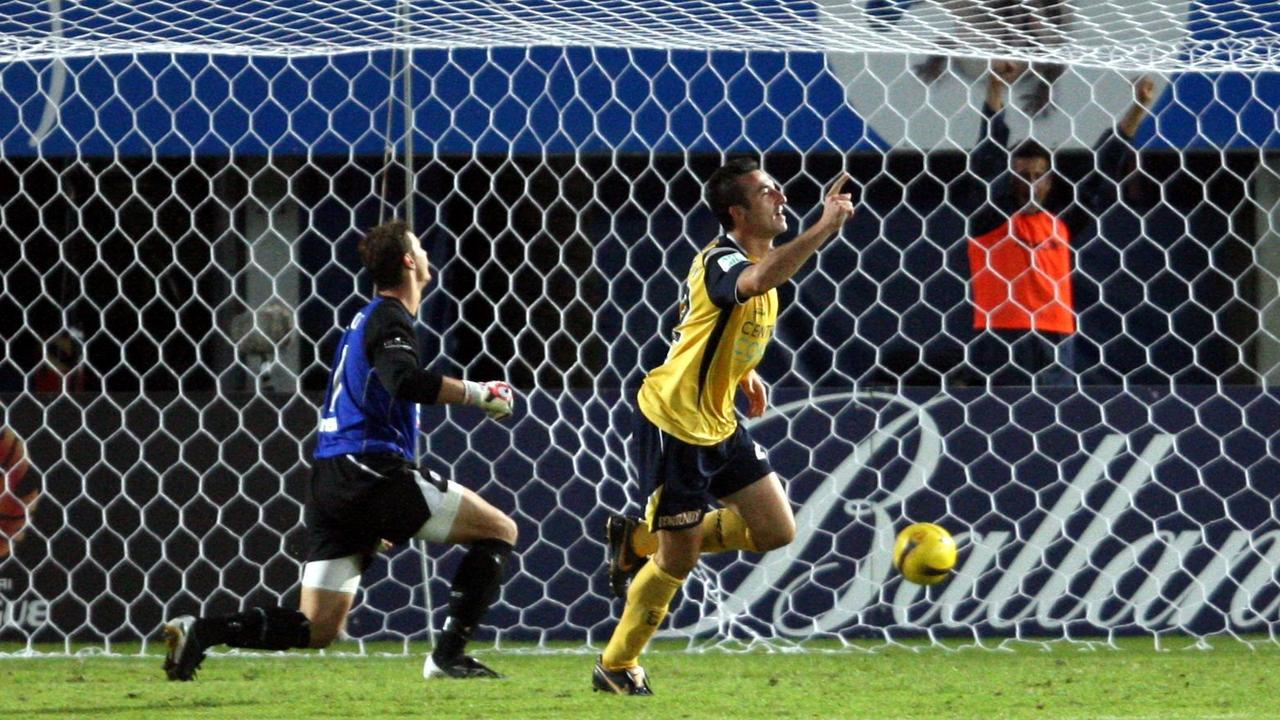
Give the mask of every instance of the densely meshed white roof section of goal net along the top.
M 626 46 L 940 53 L 1125 69 L 1270 69 L 1267 0 L 248 0 L 4 3 L 0 59 Z

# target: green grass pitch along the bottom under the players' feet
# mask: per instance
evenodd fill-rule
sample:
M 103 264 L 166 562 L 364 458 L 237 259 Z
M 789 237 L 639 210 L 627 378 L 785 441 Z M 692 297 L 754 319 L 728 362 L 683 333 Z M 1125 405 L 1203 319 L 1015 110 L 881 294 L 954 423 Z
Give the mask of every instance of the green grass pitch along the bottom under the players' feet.
M 489 650 L 479 656 L 507 679 L 430 683 L 420 675 L 421 652 L 383 656 L 378 646 L 362 657 L 211 656 L 195 683 L 166 682 L 156 656 L 0 657 L 0 708 L 13 719 L 146 720 L 1280 716 L 1275 644 L 1251 650 L 1224 638 L 1208 651 L 1157 652 L 1142 638 L 1117 646 L 690 653 L 658 643 L 645 656 L 653 698 L 593 693 L 594 657 L 582 653 Z

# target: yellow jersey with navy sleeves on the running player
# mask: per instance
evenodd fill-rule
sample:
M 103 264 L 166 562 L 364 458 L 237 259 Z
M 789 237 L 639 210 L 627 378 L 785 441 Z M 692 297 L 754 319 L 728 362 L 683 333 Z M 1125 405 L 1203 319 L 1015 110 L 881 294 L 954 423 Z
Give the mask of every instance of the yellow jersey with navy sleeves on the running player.
M 680 319 L 667 360 L 645 375 L 640 411 L 690 445 L 716 445 L 737 429 L 733 397 L 760 364 L 778 316 L 778 291 L 739 297 L 754 260 L 728 236 L 694 258 L 680 288 Z

